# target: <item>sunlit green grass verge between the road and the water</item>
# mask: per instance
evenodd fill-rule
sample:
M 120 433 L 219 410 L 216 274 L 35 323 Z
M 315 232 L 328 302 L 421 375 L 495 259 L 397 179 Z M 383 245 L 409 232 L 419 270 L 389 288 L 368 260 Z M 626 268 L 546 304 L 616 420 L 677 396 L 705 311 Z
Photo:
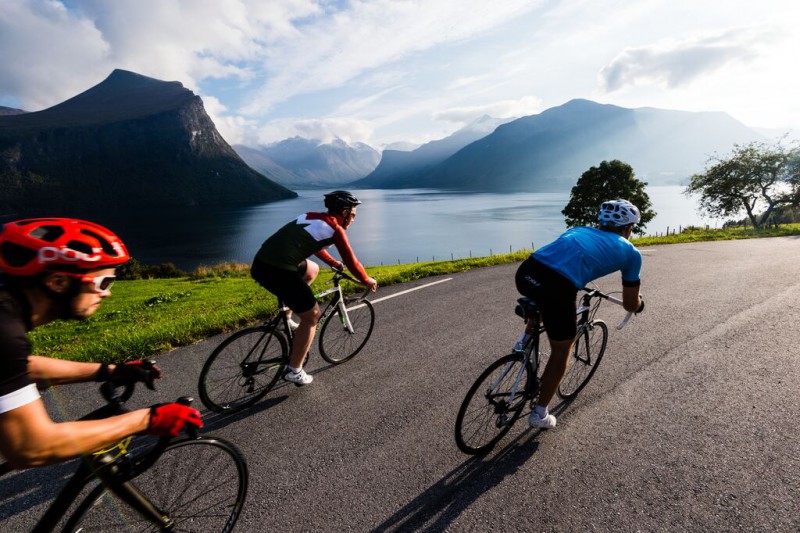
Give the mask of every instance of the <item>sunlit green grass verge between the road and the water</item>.
M 689 228 L 677 235 L 644 237 L 633 242 L 636 246 L 650 246 L 784 235 L 800 235 L 800 224 L 762 231 Z M 530 250 L 521 250 L 491 257 L 369 267 L 367 271 L 385 287 L 521 261 L 529 253 Z M 324 282 L 328 279 L 330 271 L 323 270 L 315 282 L 316 291 L 326 287 Z M 353 285 L 349 288 L 351 292 L 358 290 Z M 88 320 L 58 321 L 34 330 L 34 353 L 108 362 L 154 356 L 263 320 L 277 306 L 275 298 L 250 279 L 248 269 L 235 264 L 204 267 L 183 278 L 119 281 L 112 292 Z

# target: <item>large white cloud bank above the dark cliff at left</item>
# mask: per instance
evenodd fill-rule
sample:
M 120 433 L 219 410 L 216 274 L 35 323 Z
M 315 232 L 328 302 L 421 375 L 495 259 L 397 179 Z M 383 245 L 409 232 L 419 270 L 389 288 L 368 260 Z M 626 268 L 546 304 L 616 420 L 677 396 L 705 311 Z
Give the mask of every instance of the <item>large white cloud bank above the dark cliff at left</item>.
M 3 0 L 0 95 L 29 110 L 72 97 L 115 68 L 178 80 L 249 80 L 272 43 L 322 12 L 312 0 Z

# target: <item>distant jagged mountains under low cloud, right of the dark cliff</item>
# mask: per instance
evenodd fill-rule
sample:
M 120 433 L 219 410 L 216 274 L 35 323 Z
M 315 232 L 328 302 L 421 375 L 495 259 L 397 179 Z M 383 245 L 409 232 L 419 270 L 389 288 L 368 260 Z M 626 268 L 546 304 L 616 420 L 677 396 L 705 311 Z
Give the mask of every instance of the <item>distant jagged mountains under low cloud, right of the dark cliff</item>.
M 372 147 L 339 138 L 322 143 L 292 137 L 260 148 L 234 148 L 251 167 L 292 188 L 338 187 L 369 174 L 380 159 Z

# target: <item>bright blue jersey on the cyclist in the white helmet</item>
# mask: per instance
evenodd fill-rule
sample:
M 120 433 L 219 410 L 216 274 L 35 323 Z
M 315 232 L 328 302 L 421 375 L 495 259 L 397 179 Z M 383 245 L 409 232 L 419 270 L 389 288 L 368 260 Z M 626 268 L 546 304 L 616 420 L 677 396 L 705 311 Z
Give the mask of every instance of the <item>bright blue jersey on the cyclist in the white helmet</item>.
M 531 254 L 577 289 L 617 270 L 623 285 L 638 285 L 642 254 L 625 237 L 597 228 L 571 228 Z

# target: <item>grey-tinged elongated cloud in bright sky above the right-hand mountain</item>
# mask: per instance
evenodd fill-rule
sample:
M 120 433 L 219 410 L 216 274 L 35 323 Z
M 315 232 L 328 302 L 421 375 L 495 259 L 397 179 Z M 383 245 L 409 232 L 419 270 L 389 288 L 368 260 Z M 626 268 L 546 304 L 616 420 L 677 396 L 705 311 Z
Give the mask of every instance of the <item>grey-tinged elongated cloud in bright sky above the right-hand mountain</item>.
M 643 84 L 675 88 L 728 63 L 752 61 L 764 39 L 761 31 L 740 28 L 710 37 L 627 48 L 602 68 L 600 83 L 607 92 Z

